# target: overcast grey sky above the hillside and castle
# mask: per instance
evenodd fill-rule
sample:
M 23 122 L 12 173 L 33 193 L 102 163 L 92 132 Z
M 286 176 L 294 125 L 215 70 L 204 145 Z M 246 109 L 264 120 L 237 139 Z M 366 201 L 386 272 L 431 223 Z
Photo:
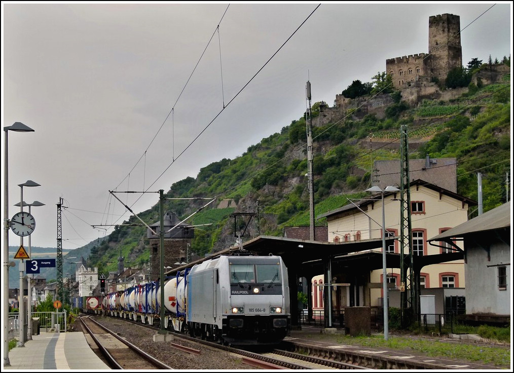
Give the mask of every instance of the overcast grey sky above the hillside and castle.
M 57 247 L 63 198 L 62 247 L 82 247 L 131 215 L 109 190 L 166 192 L 242 155 L 303 116 L 307 81 L 332 106 L 386 59 L 427 53 L 443 13 L 460 16 L 464 66 L 510 55 L 511 2 L 2 2 L 2 126 L 34 129 L 8 132 L 9 218 L 35 181 L 32 246 Z M 135 213 L 158 203 L 116 196 Z

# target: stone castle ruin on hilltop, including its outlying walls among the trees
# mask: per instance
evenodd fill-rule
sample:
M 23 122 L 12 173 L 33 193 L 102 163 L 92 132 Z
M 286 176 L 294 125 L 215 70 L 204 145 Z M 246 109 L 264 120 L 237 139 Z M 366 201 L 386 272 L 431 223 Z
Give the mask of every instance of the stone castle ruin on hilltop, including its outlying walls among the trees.
M 448 13 L 430 16 L 428 30 L 428 53 L 386 60 L 386 72 L 393 78 L 394 88 L 401 92 L 401 100 L 412 107 L 424 99 L 449 101 L 468 91 L 467 87 L 442 90 L 438 86 L 445 83 L 450 70 L 463 66 L 461 17 Z M 506 65 L 493 65 L 481 80 L 492 83 L 508 71 Z M 313 118 L 313 125 L 322 126 L 345 117 L 362 119 L 368 114 L 383 119 L 386 108 L 393 103 L 389 94 L 355 99 L 336 95 L 334 107 L 324 105 L 320 115 Z

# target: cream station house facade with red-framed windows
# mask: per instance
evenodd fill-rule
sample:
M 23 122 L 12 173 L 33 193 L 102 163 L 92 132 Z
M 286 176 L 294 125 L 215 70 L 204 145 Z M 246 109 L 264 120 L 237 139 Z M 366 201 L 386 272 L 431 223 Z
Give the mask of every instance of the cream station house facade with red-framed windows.
M 401 235 L 401 195 L 400 192 L 384 193 L 383 209 L 387 236 Z M 451 253 L 450 245 L 442 242 L 440 247 L 427 244 L 430 237 L 438 235 L 468 220 L 468 209 L 476 202 L 454 192 L 438 187 L 424 180 L 413 180 L 410 183 L 411 229 L 413 256 L 428 256 Z M 352 201 L 346 206 L 319 215 L 326 217 L 329 242 L 358 241 L 382 237 L 382 199 L 379 193 L 370 198 Z M 406 233 L 407 234 L 407 233 Z M 401 243 L 394 240 L 387 245 L 387 254 L 400 254 Z M 381 252 L 382 249 L 373 251 Z M 409 254 L 405 248 L 405 254 Z M 363 268 L 363 271 L 366 269 Z M 321 278 L 313 281 L 319 283 Z M 387 279 L 391 289 L 399 289 L 400 268 L 387 268 Z M 464 288 L 464 259 L 426 265 L 420 270 L 420 288 Z M 369 275 L 368 296 L 365 303 L 370 306 L 381 306 L 383 290 L 383 270 L 372 270 Z M 410 284 L 407 284 L 409 287 Z M 318 295 L 319 297 L 319 295 Z M 394 299 L 390 299 L 392 307 Z M 315 304 L 315 302 L 313 302 Z M 318 300 L 319 304 L 319 300 Z M 366 304 L 368 305 L 368 304 Z

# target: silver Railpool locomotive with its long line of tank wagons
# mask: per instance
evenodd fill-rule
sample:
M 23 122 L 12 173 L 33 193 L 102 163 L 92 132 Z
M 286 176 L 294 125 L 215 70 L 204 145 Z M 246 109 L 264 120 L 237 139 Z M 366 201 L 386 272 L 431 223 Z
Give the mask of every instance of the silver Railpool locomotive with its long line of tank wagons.
M 290 331 L 288 275 L 280 256 L 221 255 L 163 283 L 167 330 L 226 345 L 278 344 Z M 75 306 L 160 327 L 160 286 L 148 282 L 82 297 Z

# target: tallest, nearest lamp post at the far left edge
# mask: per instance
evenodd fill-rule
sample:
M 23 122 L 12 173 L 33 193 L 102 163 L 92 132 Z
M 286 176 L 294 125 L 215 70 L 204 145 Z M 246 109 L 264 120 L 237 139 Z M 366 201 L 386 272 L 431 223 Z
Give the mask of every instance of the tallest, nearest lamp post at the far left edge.
M 9 360 L 9 162 L 8 132 L 34 132 L 22 122 L 4 127 L 4 366 Z

